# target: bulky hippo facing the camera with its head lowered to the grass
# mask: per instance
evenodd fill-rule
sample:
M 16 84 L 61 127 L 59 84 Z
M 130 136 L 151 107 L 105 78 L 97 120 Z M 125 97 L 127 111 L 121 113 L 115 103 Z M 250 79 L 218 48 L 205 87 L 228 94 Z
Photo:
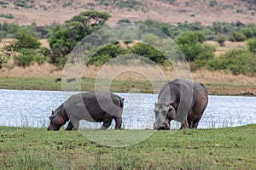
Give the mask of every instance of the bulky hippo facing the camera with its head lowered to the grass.
M 181 122 L 180 128 L 197 128 L 208 104 L 207 88 L 200 82 L 175 79 L 160 89 L 154 106 L 154 129 L 170 129 L 170 122 Z

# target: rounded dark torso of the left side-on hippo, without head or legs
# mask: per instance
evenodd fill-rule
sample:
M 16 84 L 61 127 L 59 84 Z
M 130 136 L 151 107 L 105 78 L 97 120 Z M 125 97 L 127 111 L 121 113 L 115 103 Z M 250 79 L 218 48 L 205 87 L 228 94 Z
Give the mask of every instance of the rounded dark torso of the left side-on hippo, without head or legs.
M 64 107 L 70 119 L 102 122 L 106 114 L 121 116 L 123 100 L 108 92 L 88 92 L 74 94 L 66 100 Z

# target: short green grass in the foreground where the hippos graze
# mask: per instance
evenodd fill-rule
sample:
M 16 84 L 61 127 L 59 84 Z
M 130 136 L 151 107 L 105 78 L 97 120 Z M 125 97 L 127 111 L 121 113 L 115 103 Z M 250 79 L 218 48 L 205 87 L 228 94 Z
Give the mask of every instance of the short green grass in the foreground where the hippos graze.
M 116 148 L 78 131 L 0 127 L 0 169 L 253 169 L 255 129 L 157 131 L 141 143 Z

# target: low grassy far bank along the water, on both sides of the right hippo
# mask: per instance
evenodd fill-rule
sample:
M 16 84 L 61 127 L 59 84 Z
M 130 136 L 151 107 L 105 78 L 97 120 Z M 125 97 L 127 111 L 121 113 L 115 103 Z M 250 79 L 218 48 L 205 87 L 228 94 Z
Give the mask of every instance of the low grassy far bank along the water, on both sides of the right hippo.
M 79 87 L 79 82 L 66 83 L 66 88 L 73 89 L 73 86 Z M 95 90 L 96 78 L 82 78 L 81 89 L 83 91 Z M 157 82 L 157 88 L 160 88 L 164 82 Z M 108 88 L 108 80 L 101 81 L 100 88 Z M 237 85 L 206 83 L 208 94 L 217 95 L 256 95 L 254 85 Z M 29 90 L 61 90 L 61 82 L 55 82 L 53 77 L 0 77 L 0 88 L 2 89 L 29 89 Z M 129 92 L 136 88 L 140 93 L 154 93 L 154 88 L 149 81 L 128 81 L 114 80 L 110 84 L 113 92 Z M 157 92 L 155 92 L 157 93 Z

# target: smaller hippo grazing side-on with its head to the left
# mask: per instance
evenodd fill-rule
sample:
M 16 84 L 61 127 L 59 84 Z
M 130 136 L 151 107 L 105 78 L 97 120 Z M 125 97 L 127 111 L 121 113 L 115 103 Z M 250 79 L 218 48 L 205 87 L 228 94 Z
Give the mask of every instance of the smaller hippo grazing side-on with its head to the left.
M 124 99 L 109 92 L 87 92 L 74 94 L 49 116 L 48 130 L 59 130 L 69 121 L 66 130 L 78 130 L 79 121 L 103 122 L 101 129 L 110 127 L 115 121 L 115 129 L 122 124 Z

